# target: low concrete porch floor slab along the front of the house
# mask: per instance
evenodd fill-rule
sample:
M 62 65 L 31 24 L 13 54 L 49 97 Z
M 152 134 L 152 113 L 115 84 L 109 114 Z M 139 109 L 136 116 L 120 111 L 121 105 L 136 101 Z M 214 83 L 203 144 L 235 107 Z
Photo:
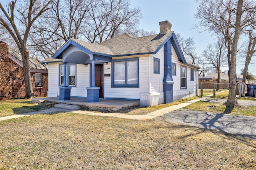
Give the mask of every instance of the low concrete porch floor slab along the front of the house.
M 60 100 L 59 97 L 51 98 L 32 98 L 32 102 L 38 103 L 42 100 L 49 102 L 56 102 L 58 104 L 70 104 L 78 105 L 81 107 L 88 107 L 90 109 L 97 109 L 100 107 L 102 110 L 117 111 L 124 107 L 140 106 L 139 101 L 130 100 L 109 100 L 109 99 L 99 99 L 98 102 L 87 102 L 86 98 L 70 98 L 70 100 Z

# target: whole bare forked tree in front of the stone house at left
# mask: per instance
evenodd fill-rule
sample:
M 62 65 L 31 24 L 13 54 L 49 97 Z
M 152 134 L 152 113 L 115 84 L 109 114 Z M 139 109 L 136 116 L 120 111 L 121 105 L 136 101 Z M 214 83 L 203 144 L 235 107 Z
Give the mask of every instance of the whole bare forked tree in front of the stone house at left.
M 48 10 L 50 1 L 30 0 L 11 1 L 6 8 L 0 2 L 0 25 L 4 26 L 11 37 L 14 39 L 20 54 L 22 55 L 24 82 L 26 98 L 33 96 L 32 84 L 30 79 L 29 51 L 27 42 L 34 21 Z

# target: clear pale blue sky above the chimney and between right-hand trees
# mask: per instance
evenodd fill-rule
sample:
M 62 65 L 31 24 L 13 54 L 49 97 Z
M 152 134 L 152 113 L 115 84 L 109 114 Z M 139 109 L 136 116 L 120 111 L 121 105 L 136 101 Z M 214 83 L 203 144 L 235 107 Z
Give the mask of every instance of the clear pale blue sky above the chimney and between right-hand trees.
M 194 18 L 197 6 L 194 0 L 130 0 L 130 4 L 132 7 L 138 6 L 142 12 L 140 28 L 159 33 L 159 22 L 168 20 L 175 34 L 179 33 L 183 38 L 193 37 L 199 55 L 209 43 L 216 41 L 208 31 L 195 28 L 198 21 Z M 237 74 L 241 73 L 240 69 L 244 68 L 244 63 L 245 59 L 237 60 Z M 221 69 L 227 71 L 228 67 Z M 256 76 L 256 56 L 252 57 L 248 70 Z

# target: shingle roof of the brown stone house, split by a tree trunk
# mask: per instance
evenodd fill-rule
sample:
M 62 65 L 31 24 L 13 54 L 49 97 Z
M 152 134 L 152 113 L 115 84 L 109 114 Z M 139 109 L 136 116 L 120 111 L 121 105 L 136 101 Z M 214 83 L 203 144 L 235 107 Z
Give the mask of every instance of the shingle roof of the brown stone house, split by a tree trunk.
M 9 47 L 8 52 L 13 57 L 15 57 L 16 59 L 18 59 L 22 62 L 22 56 L 21 56 L 19 51 L 16 51 L 15 49 L 12 49 L 12 48 Z M 42 70 L 47 70 L 48 69 L 48 67 L 44 64 L 41 64 L 38 59 L 34 59 L 32 57 L 29 57 L 29 64 L 30 64 L 30 68 L 33 68 L 33 69 L 42 69 Z

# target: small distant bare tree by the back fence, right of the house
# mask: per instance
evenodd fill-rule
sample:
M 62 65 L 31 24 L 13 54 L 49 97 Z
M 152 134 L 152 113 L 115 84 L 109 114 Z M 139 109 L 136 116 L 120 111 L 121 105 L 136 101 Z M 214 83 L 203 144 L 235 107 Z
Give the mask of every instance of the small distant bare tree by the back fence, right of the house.
M 202 57 L 206 59 L 206 61 L 210 62 L 211 65 L 216 69 L 218 73 L 217 79 L 217 90 L 220 88 L 220 68 L 221 66 L 227 64 L 226 60 L 226 48 L 225 48 L 225 40 L 221 35 L 218 35 L 218 41 L 214 44 L 209 44 L 206 49 L 202 53 Z

